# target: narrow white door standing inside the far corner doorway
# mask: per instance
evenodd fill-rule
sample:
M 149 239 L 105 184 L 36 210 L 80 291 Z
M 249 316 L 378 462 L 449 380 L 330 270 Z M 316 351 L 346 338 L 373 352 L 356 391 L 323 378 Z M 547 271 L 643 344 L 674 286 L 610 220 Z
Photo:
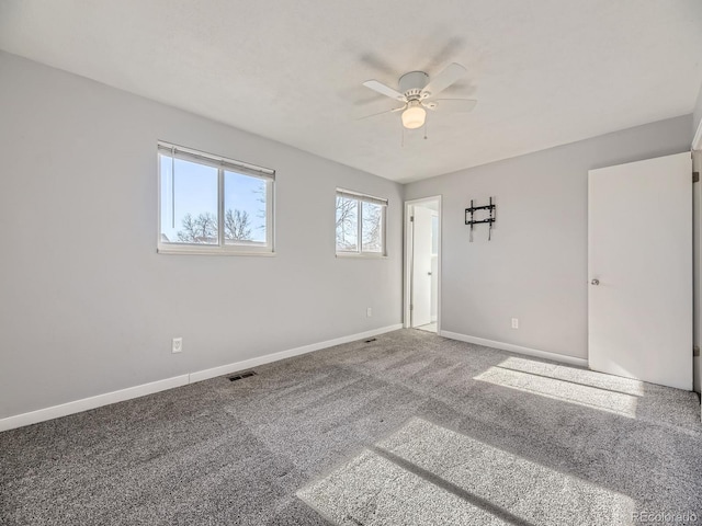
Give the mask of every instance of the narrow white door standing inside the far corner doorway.
M 431 323 L 431 210 L 414 208 L 411 325 L 421 327 Z

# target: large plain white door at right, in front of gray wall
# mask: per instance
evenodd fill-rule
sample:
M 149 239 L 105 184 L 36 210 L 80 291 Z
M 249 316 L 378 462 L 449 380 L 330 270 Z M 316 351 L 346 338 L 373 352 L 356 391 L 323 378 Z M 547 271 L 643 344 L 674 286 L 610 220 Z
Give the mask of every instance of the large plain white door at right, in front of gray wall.
M 589 365 L 692 389 L 690 152 L 591 170 Z

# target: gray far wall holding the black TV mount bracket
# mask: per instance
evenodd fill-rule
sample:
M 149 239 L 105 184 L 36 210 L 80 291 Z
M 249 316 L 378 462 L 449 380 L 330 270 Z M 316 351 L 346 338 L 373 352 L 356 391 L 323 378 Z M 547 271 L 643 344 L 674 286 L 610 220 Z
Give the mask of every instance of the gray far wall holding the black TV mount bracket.
M 588 170 L 689 150 L 691 126 L 671 118 L 407 185 L 407 199 L 443 196 L 441 329 L 586 358 Z M 490 196 L 492 241 L 478 226 L 469 243 L 464 209 Z

